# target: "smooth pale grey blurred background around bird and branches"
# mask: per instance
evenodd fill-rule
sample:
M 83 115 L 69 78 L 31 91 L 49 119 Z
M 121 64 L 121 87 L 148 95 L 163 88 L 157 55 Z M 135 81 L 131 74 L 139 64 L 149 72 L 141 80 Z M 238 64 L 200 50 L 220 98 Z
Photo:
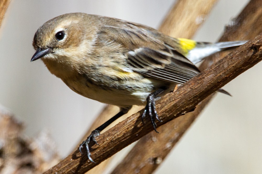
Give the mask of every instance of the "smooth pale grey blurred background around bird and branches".
M 248 0 L 221 0 L 195 38 L 214 42 Z M 103 108 L 71 91 L 41 61 L 30 63 L 32 39 L 44 22 L 84 12 L 157 28 L 174 0 L 11 1 L 0 35 L 0 104 L 25 123 L 28 136 L 50 131 L 65 157 Z M 181 14 L 183 15 L 183 14 Z M 262 171 L 262 64 L 217 94 L 155 173 L 260 173 Z M 121 152 L 117 153 L 121 156 Z M 112 164 L 113 165 L 113 164 Z

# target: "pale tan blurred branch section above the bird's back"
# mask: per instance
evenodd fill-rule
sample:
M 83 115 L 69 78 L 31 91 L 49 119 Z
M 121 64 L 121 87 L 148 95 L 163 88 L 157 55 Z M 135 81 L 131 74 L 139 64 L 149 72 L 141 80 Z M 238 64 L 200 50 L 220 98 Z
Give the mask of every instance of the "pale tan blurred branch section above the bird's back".
M 204 23 L 217 0 L 179 0 L 163 20 L 159 31 L 178 38 L 191 38 Z

